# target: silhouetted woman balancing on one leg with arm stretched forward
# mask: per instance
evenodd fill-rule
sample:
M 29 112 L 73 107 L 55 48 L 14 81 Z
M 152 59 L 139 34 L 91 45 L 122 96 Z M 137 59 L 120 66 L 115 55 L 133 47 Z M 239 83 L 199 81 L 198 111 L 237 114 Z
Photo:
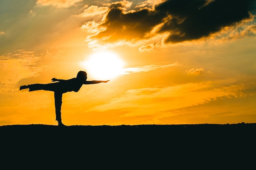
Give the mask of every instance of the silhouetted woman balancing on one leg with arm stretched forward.
M 55 113 L 56 120 L 58 121 L 58 126 L 65 126 L 61 122 L 61 104 L 62 104 L 62 94 L 70 91 L 78 92 L 83 84 L 97 84 L 97 83 L 106 83 L 109 80 L 101 81 L 101 80 L 93 80 L 86 81 L 87 73 L 85 71 L 79 71 L 77 73 L 76 78 L 64 80 L 64 79 L 56 79 L 53 78 L 52 82 L 49 84 L 30 84 L 25 86 L 20 86 L 20 90 L 29 88 L 29 91 L 53 91 L 54 92 L 54 101 L 55 101 Z

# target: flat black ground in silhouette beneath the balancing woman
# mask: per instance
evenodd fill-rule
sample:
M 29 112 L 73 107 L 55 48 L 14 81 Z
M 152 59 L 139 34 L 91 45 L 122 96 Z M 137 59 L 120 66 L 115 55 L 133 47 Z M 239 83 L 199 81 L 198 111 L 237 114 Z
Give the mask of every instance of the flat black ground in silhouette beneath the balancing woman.
M 0 126 L 4 169 L 255 169 L 256 124 Z

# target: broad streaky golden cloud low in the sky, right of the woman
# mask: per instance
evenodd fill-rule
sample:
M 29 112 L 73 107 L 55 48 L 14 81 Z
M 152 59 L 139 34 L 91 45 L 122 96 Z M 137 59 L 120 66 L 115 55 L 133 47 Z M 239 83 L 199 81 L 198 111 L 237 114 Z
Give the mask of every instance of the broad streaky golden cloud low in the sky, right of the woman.
M 122 115 L 125 117 L 161 115 L 168 110 L 207 104 L 217 99 L 250 96 L 251 94 L 247 94 L 246 91 L 247 87 L 244 84 L 217 87 L 214 82 L 138 88 L 128 90 L 122 96 L 92 110 L 105 111 L 112 108 L 127 110 L 128 112 Z

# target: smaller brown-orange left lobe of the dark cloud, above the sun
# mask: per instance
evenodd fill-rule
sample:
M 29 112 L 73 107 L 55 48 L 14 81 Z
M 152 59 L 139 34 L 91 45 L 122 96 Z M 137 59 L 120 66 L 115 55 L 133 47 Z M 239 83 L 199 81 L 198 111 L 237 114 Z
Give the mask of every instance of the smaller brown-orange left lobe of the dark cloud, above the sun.
M 142 9 L 134 13 L 124 13 L 119 7 L 111 8 L 108 12 L 106 22 L 103 26 L 108 29 L 102 32 L 101 36 L 111 35 L 110 40 L 119 38 L 144 38 L 156 24 L 162 22 L 154 12 Z

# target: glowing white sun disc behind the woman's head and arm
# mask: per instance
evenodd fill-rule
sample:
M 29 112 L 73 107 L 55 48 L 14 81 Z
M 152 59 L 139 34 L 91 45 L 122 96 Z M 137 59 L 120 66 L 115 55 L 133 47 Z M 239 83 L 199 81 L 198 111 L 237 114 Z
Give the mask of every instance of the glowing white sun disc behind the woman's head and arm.
M 122 74 L 124 61 L 112 51 L 99 51 L 90 55 L 81 65 L 88 77 L 107 80 Z

